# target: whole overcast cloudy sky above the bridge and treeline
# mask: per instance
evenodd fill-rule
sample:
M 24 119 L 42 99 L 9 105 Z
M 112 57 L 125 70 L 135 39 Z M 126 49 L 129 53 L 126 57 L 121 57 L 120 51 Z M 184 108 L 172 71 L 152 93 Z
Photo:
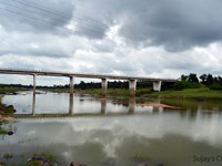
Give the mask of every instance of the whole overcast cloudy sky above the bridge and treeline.
M 219 75 L 221 8 L 221 0 L 0 0 L 0 68 Z M 29 84 L 31 77 L 0 75 L 0 82 Z

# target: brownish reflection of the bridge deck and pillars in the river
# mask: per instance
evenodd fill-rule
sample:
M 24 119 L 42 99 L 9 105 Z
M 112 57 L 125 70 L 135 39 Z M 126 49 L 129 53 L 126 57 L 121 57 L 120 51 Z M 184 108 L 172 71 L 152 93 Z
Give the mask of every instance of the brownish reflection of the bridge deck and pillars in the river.
M 64 118 L 64 117 L 78 117 L 78 116 L 118 116 L 118 115 L 130 115 L 130 114 L 135 114 L 139 113 L 137 112 L 137 102 L 135 97 L 130 97 L 129 101 L 123 101 L 123 100 L 108 100 L 105 98 L 95 98 L 100 101 L 100 111 L 99 112 L 75 112 L 74 111 L 74 94 L 69 94 L 69 111 L 64 113 L 38 113 L 36 111 L 36 95 L 32 96 L 32 112 L 28 114 L 14 114 L 14 117 L 17 120 L 22 120 L 22 118 Z M 112 105 L 121 105 L 125 107 L 128 111 L 108 111 L 108 104 Z M 90 105 L 90 103 L 89 103 Z M 157 106 L 149 106 L 148 108 L 151 112 L 161 112 L 163 111 L 162 107 L 157 107 Z M 142 113 L 142 112 L 140 112 Z

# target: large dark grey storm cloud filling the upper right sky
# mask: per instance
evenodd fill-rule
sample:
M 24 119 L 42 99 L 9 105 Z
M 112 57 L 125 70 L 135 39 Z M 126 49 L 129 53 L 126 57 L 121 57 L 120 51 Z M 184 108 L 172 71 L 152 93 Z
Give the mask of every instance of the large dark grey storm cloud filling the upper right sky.
M 120 24 L 119 34 L 135 46 L 162 45 L 175 52 L 222 39 L 220 0 L 83 0 L 75 13 Z

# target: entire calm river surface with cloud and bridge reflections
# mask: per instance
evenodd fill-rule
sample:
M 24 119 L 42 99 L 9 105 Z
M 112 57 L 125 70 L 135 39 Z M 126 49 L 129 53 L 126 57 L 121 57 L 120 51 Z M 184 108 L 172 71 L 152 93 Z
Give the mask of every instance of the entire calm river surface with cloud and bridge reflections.
M 40 93 L 33 112 L 31 92 L 6 95 L 2 103 L 14 106 L 17 121 L 3 125 L 14 134 L 1 137 L 0 160 L 18 164 L 46 153 L 64 166 L 222 165 L 220 101 L 147 101 L 182 107 L 173 110 L 138 105 L 144 98 L 71 100 L 70 105 L 69 94 Z

